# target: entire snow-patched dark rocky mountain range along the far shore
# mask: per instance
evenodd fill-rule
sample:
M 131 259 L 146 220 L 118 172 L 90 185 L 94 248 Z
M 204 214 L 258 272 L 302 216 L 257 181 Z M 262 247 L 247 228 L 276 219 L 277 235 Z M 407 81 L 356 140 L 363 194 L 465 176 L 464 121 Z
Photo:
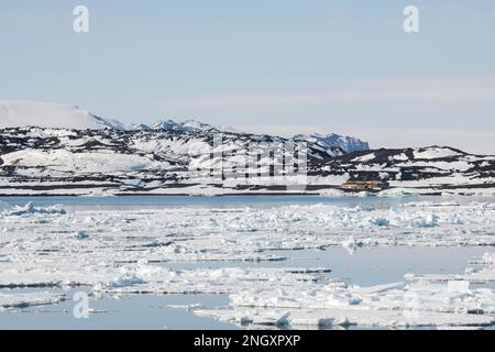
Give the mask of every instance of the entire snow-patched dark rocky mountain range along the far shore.
M 495 157 L 450 147 L 370 151 L 366 142 L 337 134 L 283 139 L 194 120 L 123 125 L 70 106 L 1 102 L 0 195 L 282 191 L 301 151 L 277 151 L 300 142 L 302 191 L 382 179 L 413 193 L 495 193 Z

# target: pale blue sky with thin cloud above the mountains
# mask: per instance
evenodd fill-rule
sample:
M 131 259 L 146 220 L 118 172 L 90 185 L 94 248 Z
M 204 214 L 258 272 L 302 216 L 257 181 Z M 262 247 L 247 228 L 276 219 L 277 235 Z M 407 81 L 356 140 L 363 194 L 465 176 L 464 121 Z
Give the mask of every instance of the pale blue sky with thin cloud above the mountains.
M 495 0 L 0 0 L 0 100 L 495 154 Z

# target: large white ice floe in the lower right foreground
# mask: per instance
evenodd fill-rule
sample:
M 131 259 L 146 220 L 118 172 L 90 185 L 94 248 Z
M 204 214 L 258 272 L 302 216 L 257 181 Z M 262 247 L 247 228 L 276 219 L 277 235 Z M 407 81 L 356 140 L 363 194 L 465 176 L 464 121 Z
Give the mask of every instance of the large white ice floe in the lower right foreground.
M 492 268 L 493 272 L 493 268 Z M 441 276 L 441 275 L 440 275 Z M 230 295 L 230 306 L 197 309 L 200 316 L 254 326 L 468 328 L 495 323 L 495 292 L 407 275 L 406 280 L 360 287 L 339 282 L 254 286 Z

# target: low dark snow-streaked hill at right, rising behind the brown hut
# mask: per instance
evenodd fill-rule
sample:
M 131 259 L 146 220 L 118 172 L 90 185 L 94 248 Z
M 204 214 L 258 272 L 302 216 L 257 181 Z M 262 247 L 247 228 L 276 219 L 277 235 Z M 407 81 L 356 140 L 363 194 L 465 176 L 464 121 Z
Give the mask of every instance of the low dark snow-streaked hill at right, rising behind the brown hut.
M 495 156 L 448 146 L 360 151 L 317 163 L 319 179 L 385 180 L 410 193 L 495 193 Z

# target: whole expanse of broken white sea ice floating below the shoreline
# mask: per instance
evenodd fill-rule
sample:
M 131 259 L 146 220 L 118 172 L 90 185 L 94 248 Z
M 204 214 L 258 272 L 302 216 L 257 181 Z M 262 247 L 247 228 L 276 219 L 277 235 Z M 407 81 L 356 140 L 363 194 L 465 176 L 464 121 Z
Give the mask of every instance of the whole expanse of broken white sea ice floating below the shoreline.
M 2 202 L 0 307 L 53 305 L 65 296 L 52 290 L 86 287 L 101 299 L 229 295 L 228 306 L 186 306 L 253 328 L 491 327 L 495 254 L 472 257 L 464 272 L 408 273 L 380 285 L 358 285 L 332 267 L 294 258 L 334 248 L 494 244 L 490 199 L 122 208 Z

